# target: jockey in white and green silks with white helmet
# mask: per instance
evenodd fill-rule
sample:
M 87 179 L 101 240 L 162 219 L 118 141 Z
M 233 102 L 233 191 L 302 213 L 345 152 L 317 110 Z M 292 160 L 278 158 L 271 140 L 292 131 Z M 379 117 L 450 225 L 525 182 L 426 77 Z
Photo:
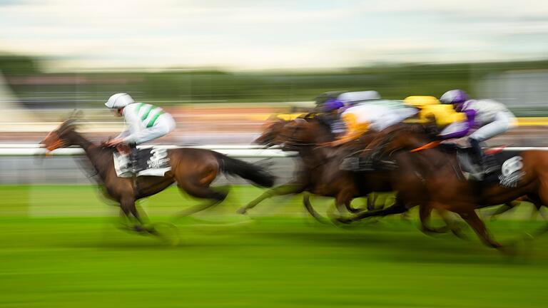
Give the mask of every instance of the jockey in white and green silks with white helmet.
M 105 106 L 116 110 L 116 114 L 123 116 L 128 125 L 126 130 L 116 138 L 108 140 L 106 145 L 129 145 L 133 166 L 136 163 L 136 145 L 167 135 L 175 128 L 175 120 L 169 113 L 147 103 L 136 103 L 126 93 L 114 94 L 108 98 Z

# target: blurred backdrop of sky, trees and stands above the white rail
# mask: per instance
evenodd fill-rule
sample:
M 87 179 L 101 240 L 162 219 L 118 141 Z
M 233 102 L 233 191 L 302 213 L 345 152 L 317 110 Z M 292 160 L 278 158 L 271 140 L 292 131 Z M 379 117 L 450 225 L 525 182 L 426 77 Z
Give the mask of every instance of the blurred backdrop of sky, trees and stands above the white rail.
M 548 9 L 502 2 L 2 0 L 0 143 L 36 144 L 73 109 L 88 138 L 117 135 L 118 92 L 176 118 L 156 143 L 248 145 L 325 91 L 462 88 L 521 117 L 490 145 L 546 146 Z M 29 181 L 28 159 L 0 158 L 0 181 Z

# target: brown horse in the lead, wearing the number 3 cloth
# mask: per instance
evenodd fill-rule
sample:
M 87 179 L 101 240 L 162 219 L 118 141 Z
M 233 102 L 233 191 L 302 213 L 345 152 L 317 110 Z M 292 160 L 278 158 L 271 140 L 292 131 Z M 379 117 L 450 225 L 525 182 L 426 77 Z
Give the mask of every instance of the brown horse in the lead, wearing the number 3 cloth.
M 171 171 L 163 177 L 119 178 L 113 163 L 113 153 L 116 152 L 116 148 L 93 144 L 77 133 L 75 128 L 74 120 L 66 120 L 59 128 L 49 133 L 41 144 L 48 151 L 71 145 L 83 148 L 103 184 L 106 196 L 119 203 L 126 217 L 133 216 L 137 220 L 139 223 L 135 226 L 137 231 L 145 229 L 136 210 L 136 200 L 155 195 L 173 183 L 177 183 L 178 188 L 188 195 L 210 200 L 203 205 L 191 207 L 184 211 L 183 215 L 204 210 L 225 199 L 227 193 L 210 188 L 210 184 L 220 173 L 238 175 L 261 187 L 271 187 L 274 183 L 273 175 L 257 165 L 236 160 L 212 150 L 197 148 L 167 150 Z

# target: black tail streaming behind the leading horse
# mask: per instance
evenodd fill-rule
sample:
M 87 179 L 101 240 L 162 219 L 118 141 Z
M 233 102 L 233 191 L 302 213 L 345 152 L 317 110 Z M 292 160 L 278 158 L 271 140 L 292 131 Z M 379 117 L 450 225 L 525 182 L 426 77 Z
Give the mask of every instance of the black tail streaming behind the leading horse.
M 241 178 L 250 180 L 261 187 L 270 188 L 274 185 L 275 176 L 266 168 L 247 163 L 243 160 L 230 158 L 221 153 L 216 154 L 217 160 L 220 163 L 220 170 L 223 170 L 223 173 L 239 175 Z

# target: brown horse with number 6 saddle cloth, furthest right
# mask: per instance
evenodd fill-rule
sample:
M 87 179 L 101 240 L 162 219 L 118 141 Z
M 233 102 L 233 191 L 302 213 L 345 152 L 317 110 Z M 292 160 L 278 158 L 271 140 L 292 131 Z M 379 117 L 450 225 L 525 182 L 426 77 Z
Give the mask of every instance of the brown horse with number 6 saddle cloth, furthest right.
M 475 210 L 480 207 L 499 205 L 512 202 L 523 195 L 535 204 L 548 204 L 548 152 L 527 150 L 520 153 L 522 157 L 523 176 L 515 187 L 508 188 L 499 184 L 485 185 L 477 181 L 465 180 L 459 170 L 456 153 L 448 153 L 440 148 L 429 148 L 430 143 L 423 133 L 412 130 L 400 130 L 387 137 L 384 152 L 387 155 L 400 155 L 412 164 L 420 176 L 427 193 L 427 202 L 420 203 L 420 218 L 423 224 L 430 217 L 430 212 L 436 210 L 440 216 L 453 226 L 447 212 L 460 215 L 491 247 L 502 247 L 492 239 Z M 417 148 L 424 150 L 411 152 Z M 413 195 L 409 188 L 400 188 L 400 193 Z M 350 220 L 360 220 L 365 217 L 382 216 L 403 211 L 402 204 L 396 204 L 385 210 L 367 212 L 356 215 Z

